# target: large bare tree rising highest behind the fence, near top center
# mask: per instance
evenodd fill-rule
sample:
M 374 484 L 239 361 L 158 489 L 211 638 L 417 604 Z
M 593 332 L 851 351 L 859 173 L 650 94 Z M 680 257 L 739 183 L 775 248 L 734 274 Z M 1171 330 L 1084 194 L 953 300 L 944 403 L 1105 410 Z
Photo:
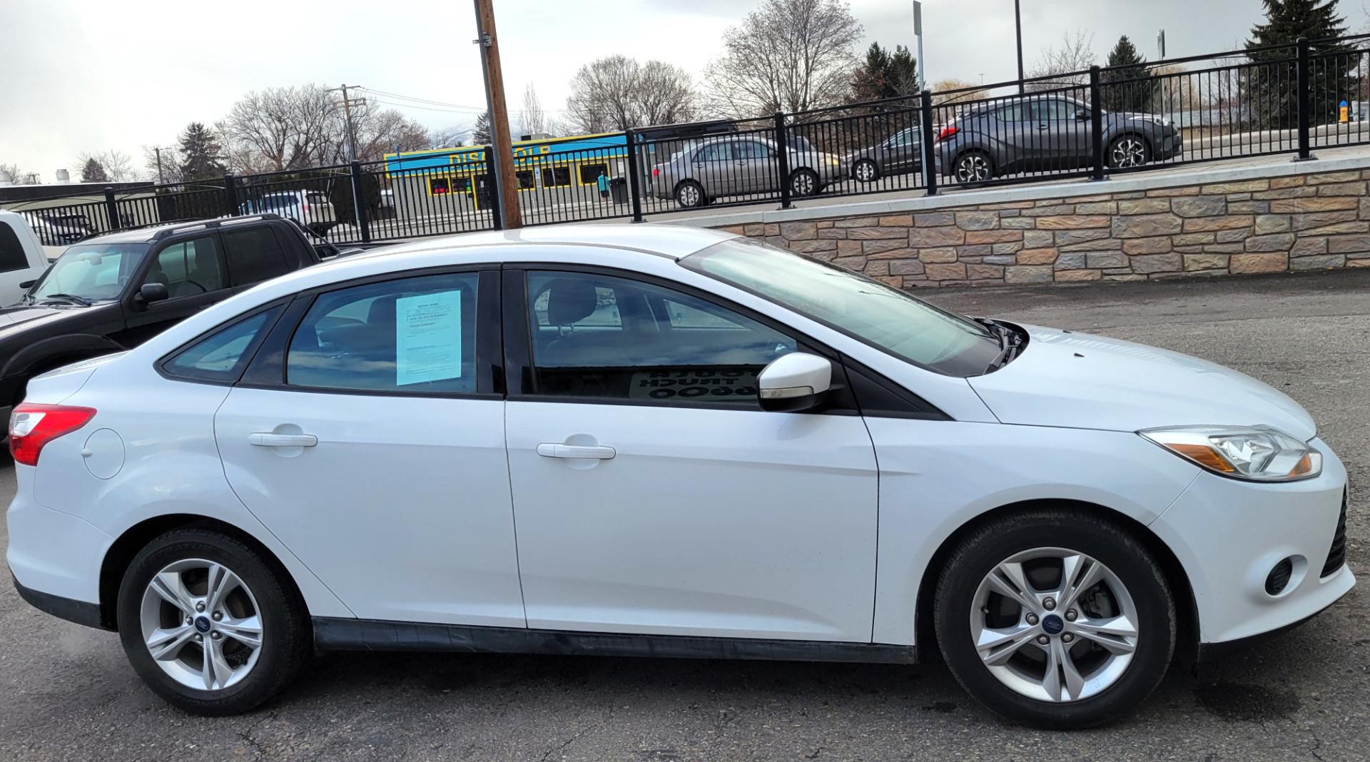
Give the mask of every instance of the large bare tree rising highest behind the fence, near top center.
M 711 108 L 736 118 L 806 111 L 849 92 L 862 26 L 838 0 L 766 0 L 704 70 Z

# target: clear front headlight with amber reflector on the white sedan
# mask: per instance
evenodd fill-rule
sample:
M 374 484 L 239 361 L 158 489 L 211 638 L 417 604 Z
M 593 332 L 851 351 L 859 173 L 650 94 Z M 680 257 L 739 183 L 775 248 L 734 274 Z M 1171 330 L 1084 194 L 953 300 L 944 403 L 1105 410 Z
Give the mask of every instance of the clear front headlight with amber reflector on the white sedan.
M 1295 481 L 1322 473 L 1321 452 L 1270 426 L 1174 426 L 1137 433 L 1225 477 Z

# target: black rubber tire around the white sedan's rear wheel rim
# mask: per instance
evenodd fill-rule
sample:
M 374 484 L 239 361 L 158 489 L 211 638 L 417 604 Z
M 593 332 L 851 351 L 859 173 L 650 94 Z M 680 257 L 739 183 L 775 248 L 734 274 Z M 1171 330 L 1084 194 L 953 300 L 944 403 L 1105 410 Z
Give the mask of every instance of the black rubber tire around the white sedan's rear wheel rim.
M 140 609 L 152 576 L 184 559 L 206 559 L 232 569 L 252 591 L 262 619 L 260 655 L 238 683 L 215 691 L 173 680 L 152 659 L 142 640 Z M 249 711 L 295 680 L 312 651 L 308 611 L 286 572 L 241 540 L 214 529 L 185 528 L 162 534 L 134 556 L 118 598 L 119 640 L 133 670 L 167 703 L 190 714 L 223 717 Z

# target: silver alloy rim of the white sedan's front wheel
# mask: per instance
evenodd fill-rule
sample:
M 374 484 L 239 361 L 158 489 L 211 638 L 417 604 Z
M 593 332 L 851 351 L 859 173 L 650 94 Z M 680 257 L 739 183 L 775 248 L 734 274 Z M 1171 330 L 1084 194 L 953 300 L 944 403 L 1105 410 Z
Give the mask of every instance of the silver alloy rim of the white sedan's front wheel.
M 1137 607 L 1117 574 L 1069 548 L 1033 548 L 995 565 L 975 591 L 970 637 L 1007 688 L 1040 702 L 1108 689 L 1137 651 Z

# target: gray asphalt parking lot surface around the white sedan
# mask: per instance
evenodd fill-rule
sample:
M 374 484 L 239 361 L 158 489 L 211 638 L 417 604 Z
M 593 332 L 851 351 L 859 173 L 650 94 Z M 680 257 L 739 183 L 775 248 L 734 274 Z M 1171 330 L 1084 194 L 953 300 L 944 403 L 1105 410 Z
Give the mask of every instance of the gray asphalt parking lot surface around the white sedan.
M 1370 570 L 1370 270 L 926 296 L 1189 352 L 1288 392 L 1351 471 L 1349 562 Z M 12 491 L 4 465 L 0 499 Z M 1365 759 L 1365 578 L 1307 625 L 1197 676 L 1173 670 L 1132 718 L 1075 733 L 1006 725 L 938 663 L 592 656 L 334 654 L 267 707 L 204 720 L 145 689 L 115 635 L 0 585 L 0 759 Z

